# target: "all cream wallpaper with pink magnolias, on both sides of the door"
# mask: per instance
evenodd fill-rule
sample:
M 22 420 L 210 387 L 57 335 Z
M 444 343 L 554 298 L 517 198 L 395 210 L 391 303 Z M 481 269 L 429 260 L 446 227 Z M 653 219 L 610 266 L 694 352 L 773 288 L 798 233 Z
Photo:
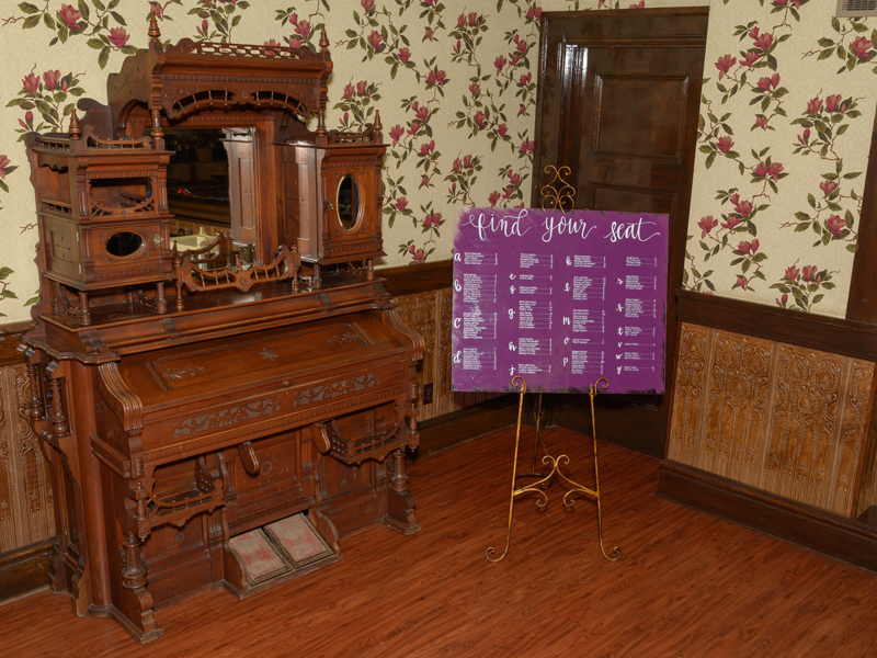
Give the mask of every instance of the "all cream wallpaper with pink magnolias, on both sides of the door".
M 0 5 L 0 317 L 37 288 L 29 131 L 66 128 L 82 95 L 162 38 L 317 47 L 329 126 L 380 112 L 384 265 L 446 259 L 464 205 L 529 197 L 542 11 L 708 0 L 32 0 Z M 685 285 L 842 316 L 877 78 L 877 22 L 829 0 L 713 0 Z

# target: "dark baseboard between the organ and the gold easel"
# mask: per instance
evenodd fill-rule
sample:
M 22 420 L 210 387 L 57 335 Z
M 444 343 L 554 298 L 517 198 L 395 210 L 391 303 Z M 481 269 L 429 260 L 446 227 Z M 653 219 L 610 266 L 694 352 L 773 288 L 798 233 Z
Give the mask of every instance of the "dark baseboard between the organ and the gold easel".
M 515 424 L 517 400 L 519 396 L 514 394 L 503 395 L 424 420 L 418 424 L 420 446 L 413 452 L 411 460 L 435 454 Z

